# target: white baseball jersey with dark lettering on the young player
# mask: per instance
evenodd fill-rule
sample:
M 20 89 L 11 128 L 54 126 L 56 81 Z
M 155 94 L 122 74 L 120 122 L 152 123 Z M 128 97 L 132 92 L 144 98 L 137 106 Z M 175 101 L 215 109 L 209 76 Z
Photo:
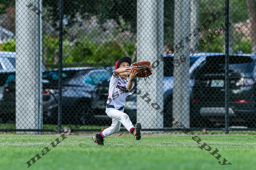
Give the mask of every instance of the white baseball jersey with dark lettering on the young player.
M 129 89 L 126 88 L 129 82 L 129 77 L 127 80 L 121 79 L 120 75 L 113 76 L 109 83 L 109 99 L 107 104 L 114 105 L 116 109 L 125 105 L 125 100 L 128 98 Z M 132 88 L 134 87 L 134 82 L 132 82 Z

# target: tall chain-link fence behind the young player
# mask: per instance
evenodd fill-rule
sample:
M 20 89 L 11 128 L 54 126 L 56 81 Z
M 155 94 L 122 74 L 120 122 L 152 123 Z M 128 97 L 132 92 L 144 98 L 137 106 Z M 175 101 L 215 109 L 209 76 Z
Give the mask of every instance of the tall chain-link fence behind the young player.
M 115 63 L 150 61 L 124 112 L 149 132 L 254 134 L 255 0 L 0 4 L 0 131 L 102 131 Z M 63 10 L 63 11 L 62 11 Z M 126 131 L 124 127 L 121 131 Z

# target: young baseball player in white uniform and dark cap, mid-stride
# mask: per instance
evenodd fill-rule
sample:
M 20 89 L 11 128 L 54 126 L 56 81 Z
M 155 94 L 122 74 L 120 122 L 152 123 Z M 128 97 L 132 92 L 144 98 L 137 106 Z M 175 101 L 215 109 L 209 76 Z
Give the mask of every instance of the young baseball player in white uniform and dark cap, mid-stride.
M 116 71 L 113 73 L 109 83 L 109 99 L 106 105 L 106 113 L 112 118 L 111 127 L 103 130 L 100 134 L 93 136 L 93 140 L 98 145 L 104 145 L 104 137 L 119 132 L 121 124 L 134 135 L 136 140 L 140 140 L 141 124 L 136 123 L 135 127 L 129 116 L 124 113 L 125 100 L 128 98 L 129 91 L 134 87 L 133 79 L 138 72 L 131 71 L 132 59 L 123 57 L 116 62 Z M 130 78 L 128 75 L 130 74 Z

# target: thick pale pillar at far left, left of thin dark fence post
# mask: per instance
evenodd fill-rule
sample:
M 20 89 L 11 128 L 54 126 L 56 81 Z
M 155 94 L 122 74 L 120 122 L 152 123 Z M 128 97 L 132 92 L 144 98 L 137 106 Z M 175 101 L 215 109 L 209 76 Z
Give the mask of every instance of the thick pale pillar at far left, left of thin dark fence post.
M 42 129 L 41 7 L 41 0 L 15 1 L 16 129 Z

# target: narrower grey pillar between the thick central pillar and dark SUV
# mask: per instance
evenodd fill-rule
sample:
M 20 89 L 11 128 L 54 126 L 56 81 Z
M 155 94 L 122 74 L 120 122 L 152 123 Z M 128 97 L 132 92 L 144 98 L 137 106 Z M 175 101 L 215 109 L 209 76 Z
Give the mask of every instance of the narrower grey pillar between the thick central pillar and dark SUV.
M 189 43 L 184 35 L 189 35 L 189 0 L 174 0 L 174 51 L 173 62 L 173 118 L 184 127 L 190 126 L 190 93 L 189 93 Z M 184 46 L 177 52 L 177 47 Z M 182 55 L 184 57 L 182 57 Z M 181 62 L 180 58 L 184 58 Z M 186 58 L 186 59 L 185 59 Z

